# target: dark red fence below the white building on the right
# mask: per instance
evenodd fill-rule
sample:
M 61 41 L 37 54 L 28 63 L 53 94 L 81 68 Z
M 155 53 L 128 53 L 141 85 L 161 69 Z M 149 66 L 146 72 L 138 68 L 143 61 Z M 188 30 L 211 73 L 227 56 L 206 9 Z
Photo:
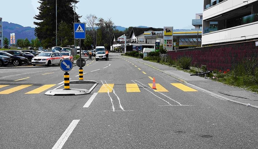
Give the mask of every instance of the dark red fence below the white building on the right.
M 168 51 L 167 54 L 174 60 L 180 57 L 191 57 L 192 66 L 206 65 L 208 70 L 232 70 L 238 65 L 244 67 L 258 65 L 257 41 L 239 42 L 223 45 L 206 46 L 200 48 Z

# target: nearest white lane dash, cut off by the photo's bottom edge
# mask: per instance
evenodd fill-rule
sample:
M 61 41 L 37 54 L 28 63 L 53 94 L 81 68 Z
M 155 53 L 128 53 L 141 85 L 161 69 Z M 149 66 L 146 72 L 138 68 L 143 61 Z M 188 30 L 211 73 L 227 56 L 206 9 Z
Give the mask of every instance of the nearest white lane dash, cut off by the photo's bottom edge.
M 55 143 L 52 149 L 61 149 L 63 147 L 63 145 L 65 144 L 68 137 L 71 135 L 72 131 L 74 130 L 79 121 L 80 120 L 72 120 L 70 125 L 67 127 L 62 136 L 57 140 L 57 143 Z

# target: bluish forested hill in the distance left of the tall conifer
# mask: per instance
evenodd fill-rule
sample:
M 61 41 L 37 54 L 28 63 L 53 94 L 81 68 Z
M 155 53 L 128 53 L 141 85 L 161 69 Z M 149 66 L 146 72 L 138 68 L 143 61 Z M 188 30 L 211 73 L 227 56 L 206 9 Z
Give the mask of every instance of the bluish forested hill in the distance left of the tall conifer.
M 3 35 L 10 40 L 10 34 L 15 33 L 15 40 L 28 38 L 35 39 L 35 28 L 23 27 L 19 24 L 3 22 Z

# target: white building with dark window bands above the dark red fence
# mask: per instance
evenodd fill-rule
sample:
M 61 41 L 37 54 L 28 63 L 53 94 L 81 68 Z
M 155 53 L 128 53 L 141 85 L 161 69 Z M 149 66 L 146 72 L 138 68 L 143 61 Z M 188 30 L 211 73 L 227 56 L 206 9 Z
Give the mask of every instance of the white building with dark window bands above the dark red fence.
M 258 39 L 258 0 L 204 0 L 202 46 Z

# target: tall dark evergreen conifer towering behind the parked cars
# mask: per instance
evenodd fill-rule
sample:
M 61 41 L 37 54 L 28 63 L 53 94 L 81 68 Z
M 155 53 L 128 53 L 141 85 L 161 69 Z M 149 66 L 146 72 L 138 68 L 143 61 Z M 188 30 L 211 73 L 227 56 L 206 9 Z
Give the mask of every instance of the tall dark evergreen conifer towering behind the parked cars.
M 35 28 L 35 35 L 38 37 L 44 47 L 55 46 L 55 34 L 56 34 L 56 1 L 55 0 L 38 0 L 40 6 L 38 7 L 39 14 L 34 18 L 38 20 L 34 22 L 37 26 Z M 57 0 L 57 24 L 66 22 L 70 29 L 73 29 L 74 23 L 74 2 L 78 3 L 78 0 Z M 80 18 L 76 13 L 76 18 Z M 79 21 L 77 19 L 77 21 Z M 70 40 L 70 39 L 67 39 Z M 58 42 L 61 43 L 61 42 Z

